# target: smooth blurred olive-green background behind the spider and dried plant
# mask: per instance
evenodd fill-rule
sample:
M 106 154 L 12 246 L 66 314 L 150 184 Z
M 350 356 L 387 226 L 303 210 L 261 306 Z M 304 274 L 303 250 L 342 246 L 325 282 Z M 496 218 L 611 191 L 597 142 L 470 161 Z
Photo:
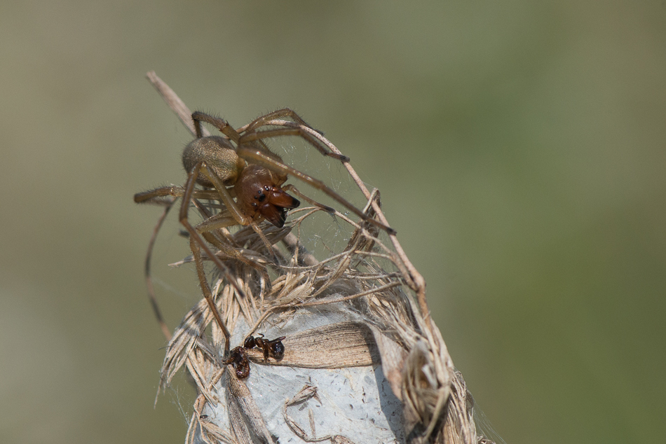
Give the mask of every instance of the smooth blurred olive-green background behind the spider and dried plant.
M 1 442 L 184 440 L 132 195 L 182 183 L 190 137 L 151 69 L 351 156 L 507 443 L 666 434 L 664 1 L 5 1 L 0 65 Z

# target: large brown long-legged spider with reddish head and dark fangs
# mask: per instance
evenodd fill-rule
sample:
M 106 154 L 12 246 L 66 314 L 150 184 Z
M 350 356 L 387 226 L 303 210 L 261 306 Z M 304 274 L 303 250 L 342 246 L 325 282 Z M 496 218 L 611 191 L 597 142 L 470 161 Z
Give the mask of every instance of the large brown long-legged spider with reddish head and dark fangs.
M 285 118 L 290 120 L 285 120 Z M 287 191 L 320 209 L 329 211 L 329 213 L 334 212 L 334 209 L 306 197 L 293 185 L 285 185 L 288 176 L 294 176 L 321 190 L 367 223 L 372 223 L 374 226 L 386 230 L 389 235 L 395 235 L 395 230 L 364 214 L 322 181 L 285 165 L 280 156 L 271 152 L 268 146 L 264 144 L 264 139 L 271 137 L 298 136 L 314 146 L 322 155 L 335 158 L 341 162 L 348 162 L 349 158 L 345 155 L 334 153 L 328 149 L 327 146 L 330 146 L 330 142 L 323 137 L 322 133 L 313 130 L 291 109 L 285 108 L 273 111 L 236 130 L 222 118 L 199 111 L 192 113 L 192 120 L 196 130 L 196 139 L 185 146 L 183 151 L 183 166 L 188 174 L 184 187 L 156 188 L 144 193 L 137 193 L 134 200 L 137 203 L 164 202 L 163 199 L 167 196 L 182 197 L 179 221 L 189 234 L 190 247 L 201 289 L 217 324 L 224 334 L 225 351 L 229 352 L 231 335 L 212 298 L 203 267 L 202 250 L 222 271 L 240 295 L 244 294 L 243 290 L 236 284 L 236 279 L 231 276 L 229 268 L 212 251 L 209 243 L 217 247 L 222 253 L 231 256 L 231 258 L 236 258 L 238 261 L 257 268 L 267 277 L 266 271 L 234 249 L 229 241 L 224 238 L 224 235 L 219 234 L 219 229 L 236 225 L 252 226 L 270 248 L 269 241 L 259 229 L 258 223 L 265 219 L 278 228 L 285 225 L 287 211 L 297 208 L 300 204 L 299 200 L 287 194 Z M 202 122 L 216 127 L 224 134 L 224 137 L 204 137 L 201 130 Z M 271 129 L 259 130 L 262 127 L 271 127 Z M 195 188 L 197 183 L 205 188 Z M 234 200 L 234 197 L 236 200 Z M 210 214 L 205 207 L 198 203 L 198 199 L 222 202 L 224 210 L 217 214 Z M 206 216 L 205 220 L 196 226 L 192 226 L 188 219 L 190 202 L 197 205 L 198 209 Z M 270 279 L 266 280 L 270 282 Z M 234 350 L 237 349 L 238 347 Z M 237 363 L 237 373 L 238 366 L 241 370 L 244 367 L 241 359 L 241 355 L 244 356 L 243 353 L 244 351 L 237 350 L 235 355 L 232 354 L 232 357 L 236 356 L 234 362 Z M 266 353 L 265 349 L 264 353 Z

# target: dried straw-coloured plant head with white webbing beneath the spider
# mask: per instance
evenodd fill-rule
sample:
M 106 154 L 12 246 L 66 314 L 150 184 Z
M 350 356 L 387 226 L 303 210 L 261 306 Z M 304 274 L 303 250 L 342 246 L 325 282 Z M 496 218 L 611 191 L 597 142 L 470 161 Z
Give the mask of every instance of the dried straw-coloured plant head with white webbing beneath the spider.
M 154 72 L 148 78 L 194 134 L 189 109 Z M 344 167 L 367 200 L 365 214 L 388 226 L 379 192 L 369 191 L 348 162 Z M 207 193 L 198 191 L 191 202 L 202 218 L 224 211 Z M 216 254 L 226 270 L 213 266 L 210 280 L 232 344 L 257 332 L 285 336 L 285 353 L 266 359 L 248 349 L 250 377 L 238 379 L 224 362 L 224 337 L 210 306 L 202 299 L 193 307 L 170 340 L 160 383 L 163 389 L 182 366 L 193 377 L 199 396 L 186 443 L 491 442 L 475 429 L 471 396 L 430 318 L 423 277 L 395 234 L 336 211 L 348 242 L 318 260 L 301 240 L 315 234 L 308 221 L 320 211 L 292 210 L 284 228 L 264 223 L 205 233 L 208 242 L 235 251 Z

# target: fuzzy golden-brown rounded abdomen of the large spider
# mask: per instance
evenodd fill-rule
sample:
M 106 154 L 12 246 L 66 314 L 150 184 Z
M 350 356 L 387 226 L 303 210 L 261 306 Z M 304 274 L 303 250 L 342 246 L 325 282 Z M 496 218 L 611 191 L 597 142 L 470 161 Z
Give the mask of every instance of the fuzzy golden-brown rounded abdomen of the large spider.
M 245 160 L 238 157 L 231 143 L 219 136 L 201 137 L 187 144 L 183 150 L 185 171 L 189 174 L 194 165 L 202 160 L 226 186 L 236 183 L 238 174 L 245 166 Z M 213 186 L 202 174 L 196 181 L 203 186 Z

